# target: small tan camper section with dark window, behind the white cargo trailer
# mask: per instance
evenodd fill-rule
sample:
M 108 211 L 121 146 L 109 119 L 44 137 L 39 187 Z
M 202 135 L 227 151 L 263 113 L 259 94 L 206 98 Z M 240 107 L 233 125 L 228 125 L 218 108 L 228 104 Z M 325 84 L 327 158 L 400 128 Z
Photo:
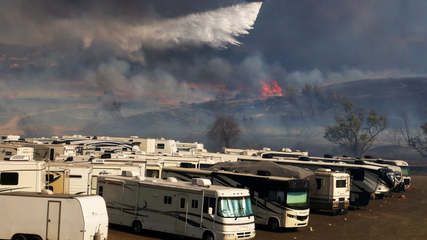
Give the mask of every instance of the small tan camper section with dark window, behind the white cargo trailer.
M 58 169 L 46 172 L 46 189 L 53 193 L 68 194 L 70 189 L 70 170 Z

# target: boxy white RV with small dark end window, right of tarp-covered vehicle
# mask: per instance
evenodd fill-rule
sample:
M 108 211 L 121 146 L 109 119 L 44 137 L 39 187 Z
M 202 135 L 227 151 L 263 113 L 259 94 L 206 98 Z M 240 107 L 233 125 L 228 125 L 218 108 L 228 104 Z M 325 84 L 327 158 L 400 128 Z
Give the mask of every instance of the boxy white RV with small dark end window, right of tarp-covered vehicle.
M 347 214 L 350 205 L 350 174 L 319 168 L 316 174 L 317 188 L 310 196 L 310 208 L 332 210 L 334 215 Z

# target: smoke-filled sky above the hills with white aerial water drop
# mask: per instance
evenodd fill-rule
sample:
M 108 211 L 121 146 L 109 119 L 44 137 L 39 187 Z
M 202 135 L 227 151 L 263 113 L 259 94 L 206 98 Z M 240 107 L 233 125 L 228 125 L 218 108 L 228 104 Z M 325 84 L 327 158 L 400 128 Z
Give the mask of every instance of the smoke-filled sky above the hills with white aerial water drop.
M 425 12 L 417 0 L 2 1 L 0 97 L 161 106 L 260 96 L 261 81 L 425 76 Z

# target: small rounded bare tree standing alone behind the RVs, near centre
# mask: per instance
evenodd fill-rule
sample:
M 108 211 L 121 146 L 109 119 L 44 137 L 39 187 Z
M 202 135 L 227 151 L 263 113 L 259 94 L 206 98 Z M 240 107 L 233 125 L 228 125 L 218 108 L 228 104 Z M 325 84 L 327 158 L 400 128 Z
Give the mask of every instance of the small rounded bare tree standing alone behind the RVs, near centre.
M 241 132 L 239 123 L 233 115 L 217 115 L 215 122 L 207 129 L 207 137 L 216 141 L 219 146 L 229 148 L 239 139 Z

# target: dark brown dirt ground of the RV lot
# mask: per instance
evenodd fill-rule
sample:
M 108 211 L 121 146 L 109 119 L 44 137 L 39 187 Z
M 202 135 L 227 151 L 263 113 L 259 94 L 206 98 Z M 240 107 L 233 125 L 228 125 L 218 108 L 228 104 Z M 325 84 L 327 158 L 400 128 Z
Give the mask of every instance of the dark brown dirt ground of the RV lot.
M 310 212 L 308 226 L 295 231 L 271 232 L 256 226 L 259 240 L 274 239 L 427 239 L 427 176 L 411 176 L 411 187 L 401 199 L 393 197 L 370 200 L 366 208 L 332 216 Z M 312 231 L 310 231 L 310 227 Z M 109 240 L 184 239 L 163 232 L 144 231 L 135 235 L 130 228 L 110 225 Z

